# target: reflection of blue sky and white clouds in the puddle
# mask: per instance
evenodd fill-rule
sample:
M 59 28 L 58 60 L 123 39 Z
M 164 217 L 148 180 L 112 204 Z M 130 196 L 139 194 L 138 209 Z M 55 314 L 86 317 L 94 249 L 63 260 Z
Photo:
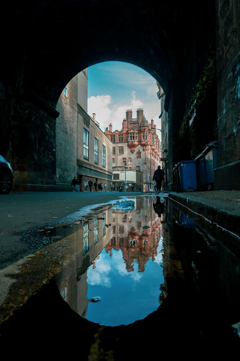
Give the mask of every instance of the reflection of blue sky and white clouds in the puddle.
M 150 259 L 142 273 L 138 272 L 137 264 L 133 272 L 126 271 L 121 250 L 113 249 L 110 257 L 103 249 L 96 268 L 87 270 L 87 298 L 98 296 L 101 301 L 88 304 L 86 318 L 100 325 L 127 325 L 156 310 L 160 284 L 164 282 L 161 248 L 160 240 L 155 261 Z

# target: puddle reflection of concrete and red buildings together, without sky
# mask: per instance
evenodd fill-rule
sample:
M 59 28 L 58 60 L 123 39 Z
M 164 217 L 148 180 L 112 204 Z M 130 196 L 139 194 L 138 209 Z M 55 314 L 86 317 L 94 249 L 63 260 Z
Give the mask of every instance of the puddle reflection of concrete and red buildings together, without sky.
M 87 269 L 92 266 L 98 270 L 97 260 L 102 249 L 110 256 L 113 248 L 121 249 L 127 272 L 133 271 L 135 263 L 138 271 L 144 272 L 148 260 L 155 260 L 162 237 L 161 218 L 158 218 L 152 200 L 147 197 L 137 199 L 135 206 L 127 212 L 109 207 L 94 219 L 68 229 L 76 258 L 66 264 L 55 280 L 69 306 L 84 318 L 90 301 L 86 298 Z M 143 226 L 150 228 L 142 229 Z

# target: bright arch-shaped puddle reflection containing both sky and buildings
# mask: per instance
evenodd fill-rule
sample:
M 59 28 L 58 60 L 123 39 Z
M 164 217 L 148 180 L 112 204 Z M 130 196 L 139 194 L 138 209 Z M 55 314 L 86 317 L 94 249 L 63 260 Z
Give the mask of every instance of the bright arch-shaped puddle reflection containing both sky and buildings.
M 71 308 L 106 326 L 127 325 L 156 310 L 164 299 L 161 219 L 148 197 L 133 197 L 130 205 L 119 202 L 79 224 L 77 248 L 83 241 L 83 249 L 76 278 L 56 278 Z

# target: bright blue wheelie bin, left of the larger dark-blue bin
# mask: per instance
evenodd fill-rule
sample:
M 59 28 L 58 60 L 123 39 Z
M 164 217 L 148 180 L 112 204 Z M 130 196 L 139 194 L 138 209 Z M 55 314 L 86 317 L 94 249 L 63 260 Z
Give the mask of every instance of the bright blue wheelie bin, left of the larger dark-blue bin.
M 196 161 L 186 160 L 177 164 L 180 192 L 196 191 L 197 177 L 196 177 Z

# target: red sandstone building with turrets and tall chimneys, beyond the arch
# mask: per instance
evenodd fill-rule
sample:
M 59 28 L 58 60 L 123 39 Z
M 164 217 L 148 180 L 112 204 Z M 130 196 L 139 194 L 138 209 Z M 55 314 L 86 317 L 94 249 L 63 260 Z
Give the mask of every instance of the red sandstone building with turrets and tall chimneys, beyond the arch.
M 153 188 L 153 173 L 160 164 L 162 157 L 161 142 L 156 133 L 153 119 L 149 123 L 143 109 L 137 109 L 137 118 L 132 118 L 132 110 L 126 110 L 126 119 L 123 119 L 122 129 L 112 131 L 112 124 L 105 135 L 113 143 L 113 166 L 127 166 L 130 171 L 143 173 L 142 190 Z M 128 180 L 128 179 L 127 179 Z

